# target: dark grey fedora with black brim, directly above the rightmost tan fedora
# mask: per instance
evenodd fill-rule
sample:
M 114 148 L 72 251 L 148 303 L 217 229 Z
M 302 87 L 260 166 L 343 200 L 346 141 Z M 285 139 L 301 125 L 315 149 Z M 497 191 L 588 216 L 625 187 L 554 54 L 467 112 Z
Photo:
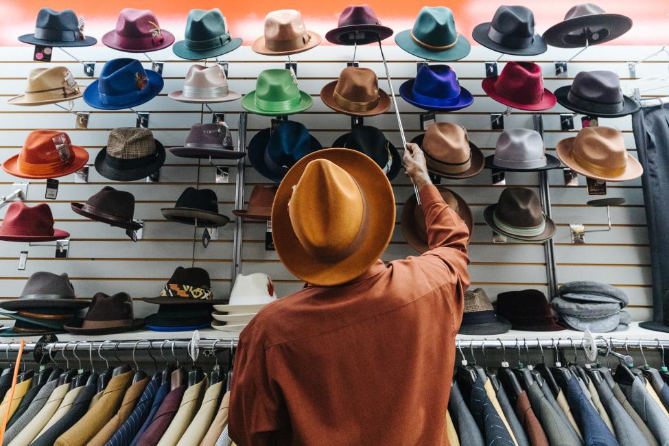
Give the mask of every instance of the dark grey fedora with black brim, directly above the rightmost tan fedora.
M 621 117 L 639 110 L 634 99 L 622 94 L 620 78 L 612 71 L 580 71 L 555 97 L 561 106 L 583 115 Z

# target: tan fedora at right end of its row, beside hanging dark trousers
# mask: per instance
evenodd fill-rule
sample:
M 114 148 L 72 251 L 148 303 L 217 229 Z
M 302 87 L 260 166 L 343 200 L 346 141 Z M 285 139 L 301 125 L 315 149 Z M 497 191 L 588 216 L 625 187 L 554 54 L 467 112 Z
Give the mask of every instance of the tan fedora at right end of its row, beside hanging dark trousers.
M 644 168 L 627 152 L 622 132 L 610 127 L 585 127 L 576 137 L 563 139 L 555 148 L 570 169 L 602 181 L 639 178 Z

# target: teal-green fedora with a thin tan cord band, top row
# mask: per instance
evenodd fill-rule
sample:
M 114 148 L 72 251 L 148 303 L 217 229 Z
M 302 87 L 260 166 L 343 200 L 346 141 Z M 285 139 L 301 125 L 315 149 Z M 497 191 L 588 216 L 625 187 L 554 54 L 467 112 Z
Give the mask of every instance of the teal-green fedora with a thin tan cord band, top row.
M 453 11 L 445 6 L 425 6 L 418 13 L 414 27 L 395 36 L 404 51 L 422 59 L 448 62 L 469 54 L 469 40 L 458 34 Z

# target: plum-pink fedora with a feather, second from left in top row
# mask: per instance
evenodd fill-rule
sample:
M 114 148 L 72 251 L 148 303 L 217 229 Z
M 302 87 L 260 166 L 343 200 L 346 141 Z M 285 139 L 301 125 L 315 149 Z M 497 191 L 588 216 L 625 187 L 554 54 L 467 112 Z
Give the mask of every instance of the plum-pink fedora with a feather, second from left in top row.
M 148 53 L 172 45 L 174 35 L 161 29 L 153 11 L 125 8 L 119 13 L 116 29 L 104 34 L 102 43 L 126 53 Z

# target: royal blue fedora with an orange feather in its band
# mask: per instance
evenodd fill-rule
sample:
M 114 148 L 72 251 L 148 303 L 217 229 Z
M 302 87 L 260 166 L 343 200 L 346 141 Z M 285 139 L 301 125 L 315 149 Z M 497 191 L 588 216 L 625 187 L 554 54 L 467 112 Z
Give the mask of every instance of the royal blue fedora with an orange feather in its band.
M 135 59 L 112 59 L 98 80 L 84 90 L 84 102 L 102 110 L 121 110 L 149 102 L 163 89 L 163 78 Z

